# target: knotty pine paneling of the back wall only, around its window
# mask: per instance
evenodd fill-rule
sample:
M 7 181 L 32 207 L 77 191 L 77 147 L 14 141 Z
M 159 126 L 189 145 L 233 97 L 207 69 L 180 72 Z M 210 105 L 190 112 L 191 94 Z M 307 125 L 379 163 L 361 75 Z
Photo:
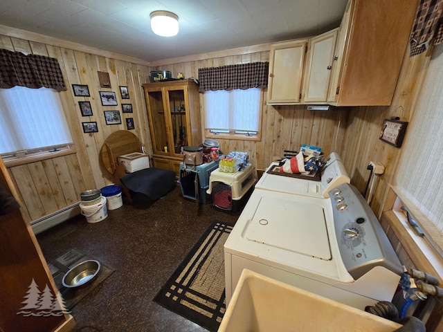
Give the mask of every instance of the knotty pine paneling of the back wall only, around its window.
M 177 60 L 179 61 L 179 60 Z M 152 70 L 171 71 L 175 76 L 198 78 L 199 68 L 246 64 L 249 62 L 269 62 L 269 50 L 214 57 L 210 59 L 177 62 L 153 66 Z M 332 151 L 341 153 L 347 125 L 348 109 L 336 108 L 333 111 L 307 111 L 304 105 L 267 105 L 267 89 L 262 106 L 262 140 L 217 140 L 221 152 L 246 151 L 251 163 L 257 169 L 266 169 L 275 158 L 282 158 L 285 149 L 300 150 L 302 144 L 323 147 L 325 154 Z M 204 133 L 203 95 L 200 93 L 201 123 Z

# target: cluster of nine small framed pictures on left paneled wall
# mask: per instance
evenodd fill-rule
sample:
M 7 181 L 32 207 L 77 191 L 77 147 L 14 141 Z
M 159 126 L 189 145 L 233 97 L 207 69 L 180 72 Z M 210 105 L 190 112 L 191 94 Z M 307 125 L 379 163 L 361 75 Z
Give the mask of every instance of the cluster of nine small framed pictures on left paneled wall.
M 111 89 L 111 80 L 109 80 L 109 73 L 98 71 L 98 80 L 100 82 L 101 88 Z M 127 86 L 119 86 L 120 98 L 130 99 L 129 91 Z M 75 97 L 91 97 L 89 93 L 89 86 L 87 84 L 72 84 L 72 89 Z M 117 96 L 114 91 L 98 91 L 100 95 L 100 102 L 103 107 L 114 107 L 118 106 Z M 132 104 L 121 104 L 122 113 L 133 113 Z M 79 101 L 78 107 L 80 108 L 80 113 L 82 116 L 93 116 L 93 109 L 91 107 L 91 102 L 89 101 Z M 107 125 L 111 124 L 121 124 L 122 118 L 120 116 L 120 111 L 109 110 L 103 111 L 105 116 L 105 122 Z M 134 118 L 125 118 L 126 129 L 135 129 Z M 96 121 L 82 122 L 82 128 L 84 133 L 97 133 L 98 124 Z

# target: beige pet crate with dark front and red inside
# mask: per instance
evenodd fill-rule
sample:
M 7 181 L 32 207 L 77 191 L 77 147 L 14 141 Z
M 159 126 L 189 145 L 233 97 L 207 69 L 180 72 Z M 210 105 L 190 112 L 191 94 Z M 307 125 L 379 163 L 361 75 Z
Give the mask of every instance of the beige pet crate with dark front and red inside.
M 210 174 L 208 194 L 213 206 L 220 210 L 238 212 L 248 201 L 257 181 L 257 172 L 251 164 L 235 173 L 220 172 L 216 169 Z

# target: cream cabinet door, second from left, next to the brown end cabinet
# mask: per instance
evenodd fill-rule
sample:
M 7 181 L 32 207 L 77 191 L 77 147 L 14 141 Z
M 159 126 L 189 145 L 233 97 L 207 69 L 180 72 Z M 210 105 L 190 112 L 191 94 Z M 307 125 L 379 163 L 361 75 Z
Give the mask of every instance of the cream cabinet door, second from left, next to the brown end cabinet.
M 337 32 L 338 28 L 312 38 L 309 43 L 303 98 L 305 103 L 325 103 L 327 100 Z

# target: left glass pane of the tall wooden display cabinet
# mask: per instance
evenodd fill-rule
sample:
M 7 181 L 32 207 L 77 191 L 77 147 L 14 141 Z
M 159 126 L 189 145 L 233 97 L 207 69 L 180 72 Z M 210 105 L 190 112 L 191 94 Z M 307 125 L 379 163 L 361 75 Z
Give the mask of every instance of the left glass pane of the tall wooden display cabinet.
M 147 92 L 147 107 L 150 111 L 152 129 L 155 135 L 152 137 L 152 149 L 154 154 L 170 154 L 168 146 L 168 131 L 165 122 L 165 109 L 163 108 L 163 93 L 159 91 Z

